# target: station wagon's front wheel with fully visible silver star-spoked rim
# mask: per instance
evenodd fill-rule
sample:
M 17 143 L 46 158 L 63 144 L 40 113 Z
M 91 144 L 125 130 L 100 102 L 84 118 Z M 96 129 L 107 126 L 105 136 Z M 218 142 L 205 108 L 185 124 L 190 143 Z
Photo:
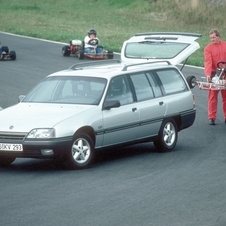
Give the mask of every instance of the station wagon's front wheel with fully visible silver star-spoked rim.
M 94 144 L 89 135 L 79 133 L 74 136 L 66 166 L 68 169 L 85 169 L 94 160 Z

